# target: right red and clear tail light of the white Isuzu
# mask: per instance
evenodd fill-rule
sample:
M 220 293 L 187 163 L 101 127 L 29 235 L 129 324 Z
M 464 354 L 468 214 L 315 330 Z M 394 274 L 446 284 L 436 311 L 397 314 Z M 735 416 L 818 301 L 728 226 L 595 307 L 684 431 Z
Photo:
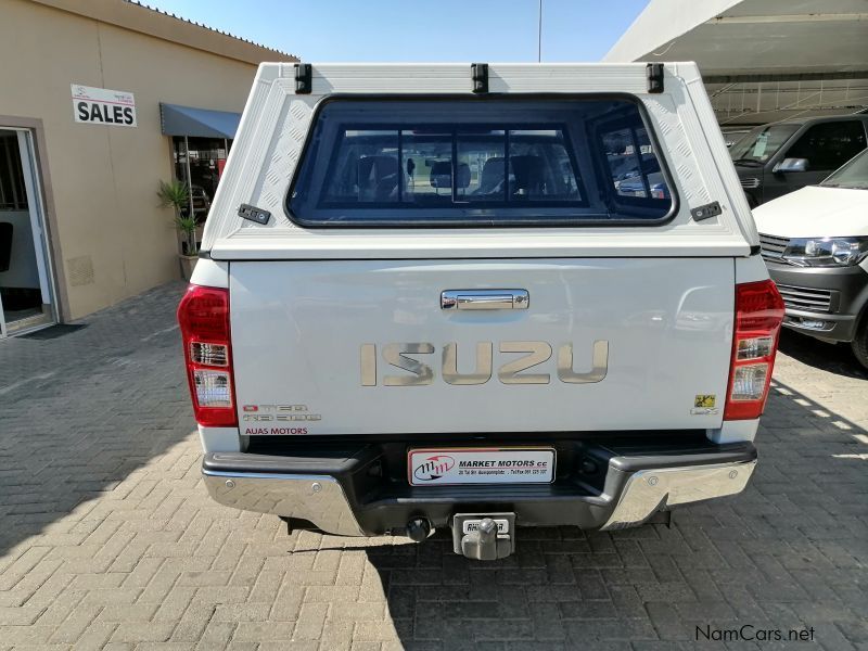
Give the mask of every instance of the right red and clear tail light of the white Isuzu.
M 736 285 L 736 332 L 724 420 L 760 418 L 783 321 L 783 299 L 771 280 Z

